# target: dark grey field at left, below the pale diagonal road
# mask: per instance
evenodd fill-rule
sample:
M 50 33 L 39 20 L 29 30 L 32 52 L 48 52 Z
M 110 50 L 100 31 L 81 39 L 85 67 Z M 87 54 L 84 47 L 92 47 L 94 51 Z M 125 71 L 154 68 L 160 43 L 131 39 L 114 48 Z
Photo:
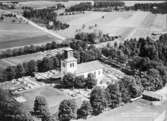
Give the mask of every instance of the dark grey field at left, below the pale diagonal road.
M 0 50 L 55 40 L 55 38 L 26 23 L 0 22 Z

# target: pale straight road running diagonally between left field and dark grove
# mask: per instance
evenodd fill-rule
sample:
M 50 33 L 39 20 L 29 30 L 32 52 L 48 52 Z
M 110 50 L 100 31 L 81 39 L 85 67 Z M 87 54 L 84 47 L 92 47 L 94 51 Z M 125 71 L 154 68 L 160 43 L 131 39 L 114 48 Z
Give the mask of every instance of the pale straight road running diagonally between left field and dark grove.
M 22 15 L 16 14 L 16 17 L 17 17 L 17 18 L 20 18 L 20 19 L 23 19 L 25 22 L 31 24 L 32 26 L 36 27 L 37 29 L 40 29 L 41 31 L 43 31 L 43 32 L 45 32 L 45 33 L 48 33 L 48 34 L 50 34 L 50 35 L 52 35 L 52 36 L 54 36 L 54 37 L 56 37 L 56 38 L 58 38 L 58 39 L 60 39 L 60 40 L 65 40 L 65 39 L 66 39 L 65 37 L 62 37 L 61 35 L 58 35 L 58 34 L 54 33 L 54 32 L 51 31 L 51 30 L 48 30 L 48 29 L 46 29 L 46 28 L 44 28 L 44 27 L 39 26 L 38 24 L 36 24 L 36 23 L 32 22 L 31 20 L 29 20 L 29 19 L 23 17 Z

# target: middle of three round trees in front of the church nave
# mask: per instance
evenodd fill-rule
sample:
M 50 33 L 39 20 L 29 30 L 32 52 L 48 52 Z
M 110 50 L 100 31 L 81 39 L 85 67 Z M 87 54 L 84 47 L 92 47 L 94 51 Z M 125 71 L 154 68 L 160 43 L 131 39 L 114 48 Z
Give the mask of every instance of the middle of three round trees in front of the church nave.
M 79 76 L 75 78 L 75 88 L 85 88 L 86 80 L 84 76 Z

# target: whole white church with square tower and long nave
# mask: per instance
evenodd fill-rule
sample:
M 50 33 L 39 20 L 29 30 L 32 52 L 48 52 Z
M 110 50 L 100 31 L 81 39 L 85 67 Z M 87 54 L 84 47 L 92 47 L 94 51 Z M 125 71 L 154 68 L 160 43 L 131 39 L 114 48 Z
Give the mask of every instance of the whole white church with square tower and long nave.
M 65 59 L 61 61 L 61 74 L 72 73 L 86 78 L 91 73 L 97 79 L 97 84 L 100 84 L 103 78 L 103 67 L 102 63 L 97 60 L 77 64 L 77 59 L 73 56 L 73 50 L 67 48 L 65 49 Z

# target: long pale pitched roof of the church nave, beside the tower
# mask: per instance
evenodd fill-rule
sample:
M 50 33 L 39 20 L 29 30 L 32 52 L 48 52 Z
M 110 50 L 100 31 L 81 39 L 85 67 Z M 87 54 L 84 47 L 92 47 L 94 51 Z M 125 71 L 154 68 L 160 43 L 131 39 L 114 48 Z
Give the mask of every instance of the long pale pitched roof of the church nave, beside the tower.
M 102 68 L 104 68 L 104 66 L 102 65 L 100 61 L 97 61 L 97 60 L 86 62 L 86 63 L 81 63 L 81 64 L 78 64 L 76 74 L 91 72 L 91 71 L 99 70 Z

